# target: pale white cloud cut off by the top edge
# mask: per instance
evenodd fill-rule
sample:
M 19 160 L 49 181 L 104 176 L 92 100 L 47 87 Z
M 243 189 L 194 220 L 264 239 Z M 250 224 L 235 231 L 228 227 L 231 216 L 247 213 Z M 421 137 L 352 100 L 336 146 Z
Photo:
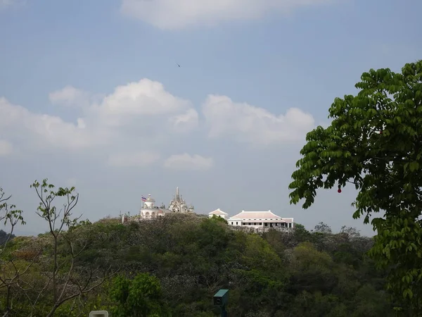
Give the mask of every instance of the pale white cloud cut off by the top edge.
M 335 0 L 122 0 L 121 12 L 161 29 L 215 25 L 227 20 L 255 20 L 267 13 Z

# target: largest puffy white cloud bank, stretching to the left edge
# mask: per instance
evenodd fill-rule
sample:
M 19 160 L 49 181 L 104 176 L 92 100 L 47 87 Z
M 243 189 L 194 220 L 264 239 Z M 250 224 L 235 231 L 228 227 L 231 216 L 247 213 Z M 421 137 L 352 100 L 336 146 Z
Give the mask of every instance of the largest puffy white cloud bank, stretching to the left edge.
M 33 113 L 0 97 L 0 135 L 38 150 L 51 146 L 91 149 L 128 144 L 128 139 L 135 137 L 141 140 L 170 135 L 170 131 L 194 127 L 197 121 L 189 101 L 174 97 L 160 82 L 148 79 L 116 87 L 112 94 L 98 101 L 98 96 L 72 86 L 52 92 L 49 98 L 57 104 L 80 101 L 84 115 L 69 122 L 59 116 Z M 167 120 L 173 120 L 177 129 L 167 125 Z

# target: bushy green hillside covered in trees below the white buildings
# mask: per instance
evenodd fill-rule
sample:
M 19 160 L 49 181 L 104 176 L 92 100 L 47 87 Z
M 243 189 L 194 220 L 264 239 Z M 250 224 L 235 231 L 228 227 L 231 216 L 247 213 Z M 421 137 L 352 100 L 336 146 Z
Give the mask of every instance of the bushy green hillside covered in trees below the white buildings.
M 364 255 L 372 240 L 353 228 L 257 235 L 221 218 L 170 215 L 85 222 L 58 237 L 56 285 L 53 235 L 8 242 L 0 290 L 8 316 L 48 316 L 62 291 L 70 298 L 51 316 L 219 316 L 220 288 L 229 289 L 229 316 L 393 316 L 384 273 Z

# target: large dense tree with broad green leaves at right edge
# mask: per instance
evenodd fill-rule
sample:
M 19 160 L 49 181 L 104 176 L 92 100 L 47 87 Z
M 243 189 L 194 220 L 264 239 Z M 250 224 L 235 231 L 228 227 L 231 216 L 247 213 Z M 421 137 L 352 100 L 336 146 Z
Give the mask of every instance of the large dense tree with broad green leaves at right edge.
M 412 316 L 422 304 L 422 61 L 401 73 L 363 73 L 356 96 L 336 98 L 328 128 L 307 134 L 289 188 L 290 203 L 314 203 L 316 189 L 347 183 L 358 190 L 354 218 L 371 221 L 377 235 L 371 256 L 392 266 L 388 288 Z M 383 216 L 375 217 L 379 212 Z

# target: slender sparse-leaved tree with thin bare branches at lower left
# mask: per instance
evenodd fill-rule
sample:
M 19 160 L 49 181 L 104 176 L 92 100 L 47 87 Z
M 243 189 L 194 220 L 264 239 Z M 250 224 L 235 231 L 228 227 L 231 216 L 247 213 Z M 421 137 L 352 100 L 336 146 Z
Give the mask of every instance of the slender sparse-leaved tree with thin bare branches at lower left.
M 55 190 L 54 185 L 47 181 L 44 179 L 40 183 L 35 180 L 30 186 L 35 189 L 40 200 L 37 215 L 49 225 L 49 231 L 44 235 L 43 246 L 44 249 L 51 249 L 51 256 L 45 257 L 43 262 L 46 282 L 37 290 L 36 285 L 39 281 L 33 280 L 25 283 L 27 287 L 22 287 L 21 290 L 30 299 L 32 310 L 42 296 L 49 298 L 48 291 L 51 290 L 53 296 L 46 314 L 46 317 L 50 317 L 65 302 L 100 286 L 108 278 L 109 272 L 106 271 L 106 275 L 100 277 L 95 268 L 76 265 L 77 258 L 89 244 L 89 237 L 84 236 L 81 228 L 90 223 L 88 220 L 79 220 L 81 216 L 72 218 L 72 211 L 79 198 L 79 194 L 75 193 L 75 187 L 59 187 Z M 57 209 L 53 205 L 53 201 L 58 199 L 63 199 L 62 209 Z M 77 234 L 75 230 L 78 230 Z

